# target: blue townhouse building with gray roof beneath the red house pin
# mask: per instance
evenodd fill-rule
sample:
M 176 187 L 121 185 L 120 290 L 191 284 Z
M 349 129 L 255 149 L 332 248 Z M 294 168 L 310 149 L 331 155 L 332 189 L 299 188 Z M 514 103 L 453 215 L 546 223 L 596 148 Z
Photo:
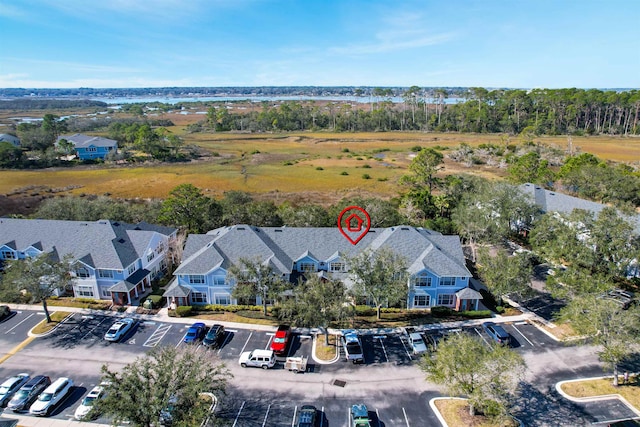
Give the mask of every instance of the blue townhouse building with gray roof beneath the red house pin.
M 182 262 L 164 296 L 176 305 L 235 304 L 229 267 L 241 258 L 269 265 L 292 283 L 320 274 L 349 280 L 346 258 L 387 248 L 403 256 L 409 272 L 407 307 L 447 306 L 477 309 L 479 294 L 469 289 L 458 236 L 409 226 L 372 228 L 352 245 L 338 228 L 253 227 L 234 225 L 188 236 Z M 460 293 L 461 291 L 468 289 Z M 460 298 L 459 298 L 460 297 Z M 256 302 L 261 303 L 260 296 Z

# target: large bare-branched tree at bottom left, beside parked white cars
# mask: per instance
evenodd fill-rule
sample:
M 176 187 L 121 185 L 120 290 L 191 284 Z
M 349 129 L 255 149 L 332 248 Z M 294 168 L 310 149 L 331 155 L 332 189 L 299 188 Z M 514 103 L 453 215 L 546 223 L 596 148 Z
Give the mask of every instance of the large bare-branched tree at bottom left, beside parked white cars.
M 171 402 L 173 425 L 198 427 L 210 415 L 211 401 L 203 399 L 203 393 L 220 396 L 229 378 L 224 364 L 196 347 L 154 348 L 116 370 L 102 366 L 102 380 L 108 385 L 95 411 L 111 416 L 114 425 L 128 421 L 151 427 L 158 425 L 160 413 Z

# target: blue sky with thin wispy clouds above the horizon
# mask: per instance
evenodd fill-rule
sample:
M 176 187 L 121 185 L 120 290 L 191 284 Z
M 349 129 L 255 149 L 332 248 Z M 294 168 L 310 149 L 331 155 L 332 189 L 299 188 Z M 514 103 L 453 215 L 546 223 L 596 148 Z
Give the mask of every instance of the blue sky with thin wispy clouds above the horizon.
M 0 0 L 0 87 L 640 88 L 638 0 Z

